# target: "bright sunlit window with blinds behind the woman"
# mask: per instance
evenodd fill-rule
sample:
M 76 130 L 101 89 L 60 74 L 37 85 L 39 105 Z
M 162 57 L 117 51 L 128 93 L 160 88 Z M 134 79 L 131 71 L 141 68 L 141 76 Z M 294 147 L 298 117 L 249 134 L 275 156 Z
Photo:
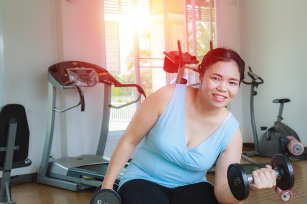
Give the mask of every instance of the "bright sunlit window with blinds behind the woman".
M 166 14 L 163 6 L 167 5 Z M 177 43 L 177 38 L 200 61 L 210 49 L 208 0 L 103 0 L 103 6 L 106 69 L 123 84 L 141 85 L 146 95 L 176 80 L 176 74 L 163 71 L 163 51 Z M 214 22 L 214 9 L 211 11 Z M 167 51 L 178 50 L 177 44 L 173 47 Z M 198 80 L 196 72 L 187 70 L 185 75 L 193 83 Z M 134 88 L 112 87 L 111 104 L 133 101 L 137 94 Z M 111 108 L 109 131 L 125 130 L 137 107 L 135 103 Z

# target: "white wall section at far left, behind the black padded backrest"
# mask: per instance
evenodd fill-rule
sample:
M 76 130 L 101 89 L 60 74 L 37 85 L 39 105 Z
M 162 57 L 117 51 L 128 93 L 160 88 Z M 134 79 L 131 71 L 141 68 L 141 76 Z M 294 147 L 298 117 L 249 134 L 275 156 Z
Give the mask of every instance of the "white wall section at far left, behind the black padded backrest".
M 55 5 L 52 0 L 1 0 L 5 103 L 25 106 L 30 129 L 29 167 L 38 171 L 47 119 L 47 68 L 57 61 Z M 1 53 L 3 54 L 3 53 Z M 2 77 L 1 77 L 2 78 Z M 2 101 L 4 103 L 4 101 Z

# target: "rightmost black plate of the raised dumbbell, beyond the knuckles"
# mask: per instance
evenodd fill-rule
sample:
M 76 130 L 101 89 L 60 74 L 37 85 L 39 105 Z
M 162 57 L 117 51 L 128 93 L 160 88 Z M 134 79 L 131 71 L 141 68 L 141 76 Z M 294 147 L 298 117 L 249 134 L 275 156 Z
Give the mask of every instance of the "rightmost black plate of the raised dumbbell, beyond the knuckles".
M 281 171 L 281 179 L 276 180 L 277 186 L 281 190 L 291 189 L 294 185 L 294 172 L 289 159 L 282 154 L 274 155 L 271 166 L 273 169 L 278 166 Z

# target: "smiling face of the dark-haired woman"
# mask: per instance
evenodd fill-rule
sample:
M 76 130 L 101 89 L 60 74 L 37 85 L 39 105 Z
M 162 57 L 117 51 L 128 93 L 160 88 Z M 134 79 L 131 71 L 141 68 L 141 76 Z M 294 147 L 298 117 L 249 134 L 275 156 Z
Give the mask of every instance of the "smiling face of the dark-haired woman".
M 240 72 L 237 64 L 216 62 L 200 77 L 200 89 L 209 104 L 222 108 L 230 104 L 239 90 Z

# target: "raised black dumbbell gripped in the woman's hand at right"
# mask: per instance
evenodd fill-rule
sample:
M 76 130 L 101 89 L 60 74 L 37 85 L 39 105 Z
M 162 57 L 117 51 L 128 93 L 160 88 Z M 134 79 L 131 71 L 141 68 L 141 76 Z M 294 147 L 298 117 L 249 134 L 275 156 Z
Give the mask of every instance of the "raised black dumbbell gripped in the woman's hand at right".
M 274 155 L 271 166 L 276 172 L 277 186 L 281 190 L 291 189 L 294 185 L 294 172 L 289 159 L 282 154 Z M 242 201 L 248 197 L 250 184 L 254 182 L 252 174 L 247 175 L 240 164 L 232 163 L 228 167 L 227 179 L 234 198 Z

